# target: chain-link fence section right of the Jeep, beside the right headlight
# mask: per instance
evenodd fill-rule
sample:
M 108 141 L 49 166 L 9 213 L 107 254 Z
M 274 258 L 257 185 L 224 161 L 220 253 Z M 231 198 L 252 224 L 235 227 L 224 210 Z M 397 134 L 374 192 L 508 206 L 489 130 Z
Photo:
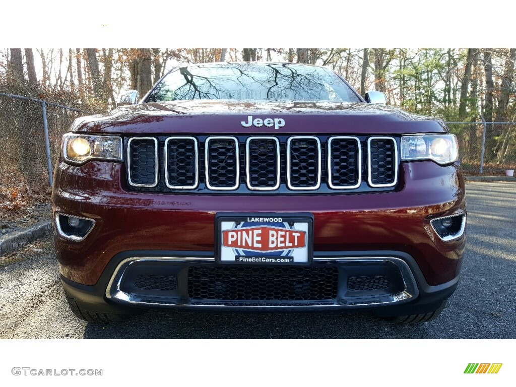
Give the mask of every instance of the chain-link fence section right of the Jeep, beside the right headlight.
M 465 174 L 500 175 L 516 167 L 516 123 L 447 122 L 459 140 Z

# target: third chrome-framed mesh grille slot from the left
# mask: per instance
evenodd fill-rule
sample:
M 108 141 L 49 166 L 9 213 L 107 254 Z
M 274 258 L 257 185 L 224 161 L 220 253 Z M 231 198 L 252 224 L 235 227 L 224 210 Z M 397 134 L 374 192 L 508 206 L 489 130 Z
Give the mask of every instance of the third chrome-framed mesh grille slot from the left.
M 235 188 L 238 184 L 237 143 L 233 138 L 211 138 L 206 144 L 207 176 L 210 187 Z

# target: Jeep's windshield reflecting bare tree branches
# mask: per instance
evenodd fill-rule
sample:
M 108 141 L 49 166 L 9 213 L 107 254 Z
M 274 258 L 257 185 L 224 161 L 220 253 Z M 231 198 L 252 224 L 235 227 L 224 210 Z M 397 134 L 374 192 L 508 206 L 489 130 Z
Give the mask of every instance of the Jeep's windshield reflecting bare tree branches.
M 146 102 L 176 100 L 360 102 L 332 71 L 297 63 L 221 63 L 172 70 Z

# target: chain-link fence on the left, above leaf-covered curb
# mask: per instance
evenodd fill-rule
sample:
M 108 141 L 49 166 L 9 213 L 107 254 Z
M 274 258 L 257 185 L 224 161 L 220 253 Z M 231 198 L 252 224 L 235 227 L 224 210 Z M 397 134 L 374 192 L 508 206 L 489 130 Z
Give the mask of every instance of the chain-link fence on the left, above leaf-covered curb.
M 0 236 L 50 217 L 52 167 L 75 108 L 0 92 Z M 21 219 L 21 220 L 20 220 Z M 14 227 L 14 228 L 13 228 Z

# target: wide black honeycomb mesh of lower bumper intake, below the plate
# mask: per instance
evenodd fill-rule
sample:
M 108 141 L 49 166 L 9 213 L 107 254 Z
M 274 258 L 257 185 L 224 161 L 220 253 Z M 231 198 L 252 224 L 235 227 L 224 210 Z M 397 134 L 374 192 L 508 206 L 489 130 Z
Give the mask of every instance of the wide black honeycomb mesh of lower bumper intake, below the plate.
M 202 300 L 332 300 L 336 267 L 208 267 L 188 270 L 188 296 Z

